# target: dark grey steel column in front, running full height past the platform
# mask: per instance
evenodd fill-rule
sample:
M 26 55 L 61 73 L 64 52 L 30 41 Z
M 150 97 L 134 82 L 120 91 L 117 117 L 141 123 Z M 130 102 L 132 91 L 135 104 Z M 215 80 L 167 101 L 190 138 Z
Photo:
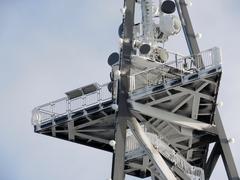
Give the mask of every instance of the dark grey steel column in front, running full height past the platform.
M 118 113 L 115 127 L 115 141 L 116 147 L 113 155 L 113 180 L 124 180 L 124 166 L 125 166 L 125 143 L 126 143 L 126 129 L 127 119 L 130 118 L 127 99 L 129 92 L 129 75 L 130 63 L 132 54 L 133 41 L 133 26 L 134 26 L 134 12 L 135 0 L 125 0 L 124 2 L 125 14 L 123 17 L 123 45 L 120 55 L 121 78 L 118 86 Z

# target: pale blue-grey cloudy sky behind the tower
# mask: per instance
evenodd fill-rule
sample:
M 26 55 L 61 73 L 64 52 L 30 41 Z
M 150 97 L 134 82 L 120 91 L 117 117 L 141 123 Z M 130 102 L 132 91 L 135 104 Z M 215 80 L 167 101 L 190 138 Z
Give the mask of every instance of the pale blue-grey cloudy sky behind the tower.
M 110 177 L 110 153 L 34 134 L 30 119 L 35 106 L 63 97 L 66 91 L 109 81 L 107 57 L 118 51 L 122 3 L 0 0 L 1 180 Z M 203 34 L 201 50 L 223 49 L 220 112 L 227 135 L 236 139 L 231 149 L 238 169 L 239 8 L 239 0 L 194 0 L 189 9 L 195 31 Z M 172 48 L 181 52 L 184 47 L 175 43 Z M 221 161 L 212 179 L 226 179 Z

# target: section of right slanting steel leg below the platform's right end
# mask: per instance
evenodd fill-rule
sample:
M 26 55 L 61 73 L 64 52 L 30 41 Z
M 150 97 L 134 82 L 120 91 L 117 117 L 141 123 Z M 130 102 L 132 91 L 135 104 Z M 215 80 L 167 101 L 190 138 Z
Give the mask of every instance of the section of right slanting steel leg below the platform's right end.
M 233 160 L 232 152 L 229 146 L 229 142 L 223 128 L 222 120 L 219 114 L 218 109 L 216 108 L 214 122 L 216 124 L 217 133 L 219 137 L 219 142 L 221 146 L 221 155 L 223 159 L 223 163 L 228 175 L 228 179 L 230 180 L 240 180 L 237 172 L 236 165 Z

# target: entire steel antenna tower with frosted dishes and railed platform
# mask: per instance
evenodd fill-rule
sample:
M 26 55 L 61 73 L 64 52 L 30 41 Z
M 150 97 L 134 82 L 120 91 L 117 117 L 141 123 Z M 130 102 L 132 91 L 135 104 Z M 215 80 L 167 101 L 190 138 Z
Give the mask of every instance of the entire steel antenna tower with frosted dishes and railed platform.
M 228 178 L 239 180 L 216 103 L 220 49 L 199 50 L 188 2 L 125 0 L 111 82 L 36 107 L 35 132 L 112 152 L 113 180 L 207 180 L 220 156 Z M 164 48 L 181 30 L 188 56 Z

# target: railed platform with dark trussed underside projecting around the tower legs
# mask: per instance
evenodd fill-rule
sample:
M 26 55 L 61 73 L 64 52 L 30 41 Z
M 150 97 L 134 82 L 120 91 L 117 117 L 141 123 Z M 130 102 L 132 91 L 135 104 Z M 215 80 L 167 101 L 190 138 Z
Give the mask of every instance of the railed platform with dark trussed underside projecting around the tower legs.
M 164 64 L 144 70 L 137 67 L 131 73 L 131 112 L 156 149 L 165 149 L 163 157 L 200 180 L 208 153 L 207 141 L 204 144 L 201 140 L 215 140 L 213 115 L 222 73 L 221 52 L 212 48 L 196 56 L 172 55 Z M 32 124 L 36 133 L 113 152 L 110 141 L 115 139 L 116 112 L 108 84 L 94 83 L 34 108 Z M 136 147 L 129 129 L 128 132 L 125 171 L 147 177 L 153 169 L 144 166 L 145 152 Z

